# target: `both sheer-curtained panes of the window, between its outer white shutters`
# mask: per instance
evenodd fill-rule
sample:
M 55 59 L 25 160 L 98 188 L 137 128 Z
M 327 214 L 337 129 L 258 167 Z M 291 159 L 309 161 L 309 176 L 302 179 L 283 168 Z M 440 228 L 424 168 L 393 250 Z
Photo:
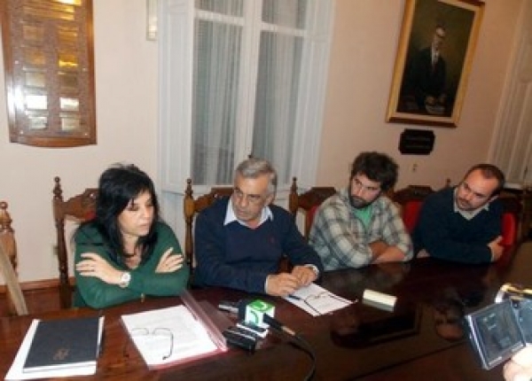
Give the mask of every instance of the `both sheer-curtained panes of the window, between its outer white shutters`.
M 196 8 L 194 183 L 231 183 L 247 154 L 270 159 L 288 183 L 307 0 L 197 0 Z

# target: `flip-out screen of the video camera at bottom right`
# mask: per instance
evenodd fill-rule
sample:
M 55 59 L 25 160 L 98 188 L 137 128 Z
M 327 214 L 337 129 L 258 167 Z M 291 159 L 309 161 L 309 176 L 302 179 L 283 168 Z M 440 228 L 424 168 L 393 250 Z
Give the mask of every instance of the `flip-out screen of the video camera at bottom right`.
M 505 362 L 527 345 L 519 313 L 512 300 L 505 299 L 465 315 L 470 342 L 481 359 L 483 369 Z

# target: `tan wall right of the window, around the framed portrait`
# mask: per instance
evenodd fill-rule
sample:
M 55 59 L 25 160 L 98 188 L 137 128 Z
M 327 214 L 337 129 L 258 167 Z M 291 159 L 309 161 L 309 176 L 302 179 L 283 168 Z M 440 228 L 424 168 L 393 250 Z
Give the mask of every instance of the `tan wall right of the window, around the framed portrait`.
M 430 128 L 434 151 L 425 156 L 401 155 L 397 147 L 404 128 L 426 128 L 386 122 L 404 2 L 337 0 L 317 183 L 346 185 L 348 167 L 363 151 L 397 160 L 398 188 L 438 189 L 447 177 L 458 182 L 466 167 L 487 160 L 521 4 L 486 1 L 458 128 Z

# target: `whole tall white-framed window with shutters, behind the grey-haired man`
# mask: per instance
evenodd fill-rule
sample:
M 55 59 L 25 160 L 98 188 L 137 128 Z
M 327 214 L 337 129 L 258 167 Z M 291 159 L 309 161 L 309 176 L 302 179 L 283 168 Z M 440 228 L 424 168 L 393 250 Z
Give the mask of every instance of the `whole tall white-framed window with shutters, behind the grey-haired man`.
M 314 183 L 332 0 L 160 0 L 163 191 L 232 182 L 248 155 Z

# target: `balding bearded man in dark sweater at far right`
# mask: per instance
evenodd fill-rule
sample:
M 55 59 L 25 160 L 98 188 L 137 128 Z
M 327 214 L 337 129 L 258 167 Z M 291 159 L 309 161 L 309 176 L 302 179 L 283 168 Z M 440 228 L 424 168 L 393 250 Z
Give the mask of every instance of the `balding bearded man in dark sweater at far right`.
M 497 199 L 505 184 L 503 172 L 490 164 L 467 171 L 454 188 L 426 198 L 414 229 L 414 251 L 463 263 L 489 263 L 503 254 L 503 206 Z

